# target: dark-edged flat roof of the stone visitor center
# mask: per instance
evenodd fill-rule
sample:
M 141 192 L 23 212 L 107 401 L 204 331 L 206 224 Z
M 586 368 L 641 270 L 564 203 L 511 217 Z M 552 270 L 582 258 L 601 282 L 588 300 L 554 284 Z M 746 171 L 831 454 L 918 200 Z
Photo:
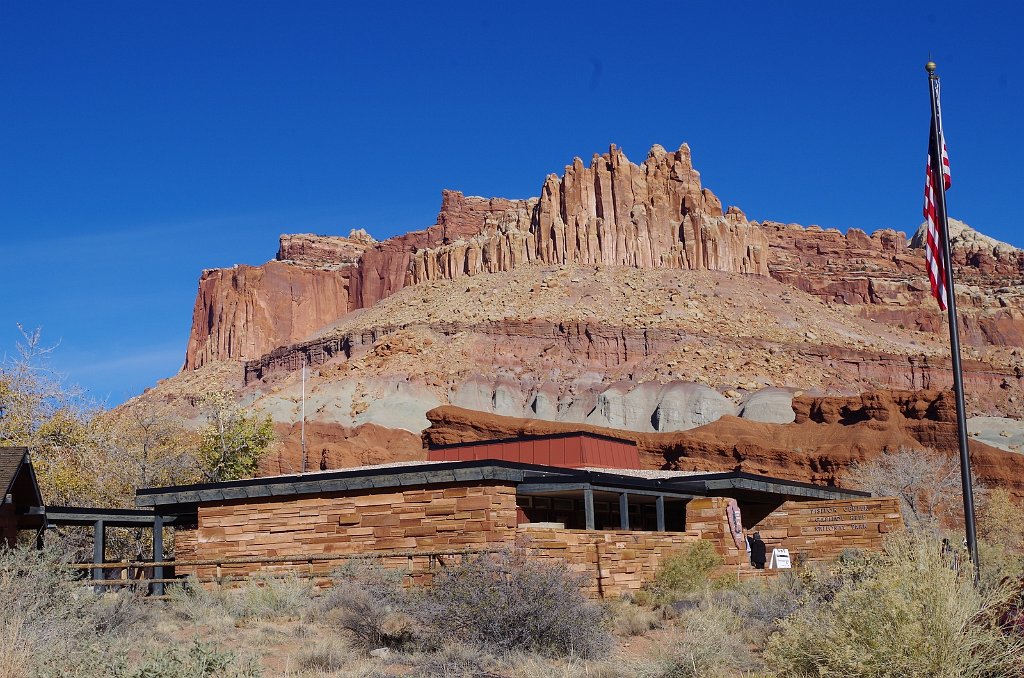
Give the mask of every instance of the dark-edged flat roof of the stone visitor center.
M 572 483 L 581 486 L 590 484 L 616 491 L 639 491 L 677 497 L 715 496 L 716 493 L 737 491 L 822 500 L 870 496 L 869 493 L 740 472 L 652 478 L 620 473 L 617 469 L 575 469 L 501 460 L 473 460 L 376 465 L 225 482 L 148 488 L 135 493 L 135 505 L 179 507 L 182 510 L 189 510 L 196 505 L 212 502 L 359 490 L 422 488 L 483 480 L 498 480 L 515 485 L 528 484 L 530 489 L 554 483 Z

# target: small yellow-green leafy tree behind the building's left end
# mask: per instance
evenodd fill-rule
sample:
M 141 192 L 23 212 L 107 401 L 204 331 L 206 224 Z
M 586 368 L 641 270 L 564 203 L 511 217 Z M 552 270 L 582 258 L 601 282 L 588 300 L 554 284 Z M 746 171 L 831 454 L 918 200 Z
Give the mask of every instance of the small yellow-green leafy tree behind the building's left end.
M 200 431 L 199 459 L 211 481 L 251 477 L 273 442 L 273 422 L 234 404 L 226 391 L 204 398 L 208 424 Z

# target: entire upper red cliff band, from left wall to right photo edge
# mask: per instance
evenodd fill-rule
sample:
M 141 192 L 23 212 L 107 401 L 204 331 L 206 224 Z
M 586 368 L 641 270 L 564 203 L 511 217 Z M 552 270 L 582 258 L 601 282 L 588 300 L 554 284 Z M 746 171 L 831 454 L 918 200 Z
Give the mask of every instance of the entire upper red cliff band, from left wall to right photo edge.
M 970 231 L 973 232 L 973 231 Z M 955 258 L 964 340 L 1024 345 L 1024 253 L 962 238 Z M 300 340 L 407 285 L 510 270 L 527 262 L 605 263 L 770 274 L 894 326 L 941 332 L 922 251 L 903 234 L 868 237 L 749 222 L 700 185 L 689 149 L 651 149 L 640 165 L 614 146 L 549 176 L 538 200 L 443 192 L 435 225 L 382 243 L 283 236 L 289 262 L 206 271 L 185 369 L 251 359 Z M 265 270 L 264 270 L 265 269 Z M 260 271 L 260 272 L 257 272 Z M 295 301 L 289 306 L 287 300 Z

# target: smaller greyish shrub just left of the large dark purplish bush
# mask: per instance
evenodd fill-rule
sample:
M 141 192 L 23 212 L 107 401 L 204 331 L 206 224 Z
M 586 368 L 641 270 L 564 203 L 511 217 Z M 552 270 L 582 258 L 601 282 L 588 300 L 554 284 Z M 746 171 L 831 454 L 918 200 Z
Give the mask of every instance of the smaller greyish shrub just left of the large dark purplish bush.
M 348 631 L 364 649 L 399 647 L 415 637 L 416 592 L 402 586 L 404 571 L 373 560 L 355 560 L 334 573 L 334 586 L 315 611 Z

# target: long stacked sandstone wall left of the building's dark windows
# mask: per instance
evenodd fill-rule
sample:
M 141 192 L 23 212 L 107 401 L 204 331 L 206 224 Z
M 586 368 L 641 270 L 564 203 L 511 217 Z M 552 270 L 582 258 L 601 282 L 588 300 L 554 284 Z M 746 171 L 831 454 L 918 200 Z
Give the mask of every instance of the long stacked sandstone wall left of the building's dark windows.
M 199 508 L 195 529 L 175 531 L 175 559 L 283 558 L 316 554 L 476 549 L 515 540 L 515 486 L 438 485 L 325 496 L 226 501 Z M 311 560 L 327 575 L 341 560 Z M 419 562 L 414 566 L 422 564 Z M 245 576 L 259 562 L 178 565 L 178 575 Z M 420 569 L 417 567 L 417 569 Z

